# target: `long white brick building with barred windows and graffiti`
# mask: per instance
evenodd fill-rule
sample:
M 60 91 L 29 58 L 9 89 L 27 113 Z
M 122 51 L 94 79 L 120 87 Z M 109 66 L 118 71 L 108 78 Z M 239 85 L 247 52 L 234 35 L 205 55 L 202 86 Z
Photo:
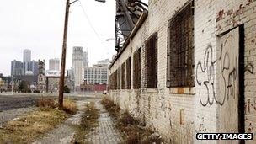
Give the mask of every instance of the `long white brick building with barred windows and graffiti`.
M 149 0 L 109 66 L 109 99 L 168 143 L 256 143 L 255 66 L 255 0 Z

